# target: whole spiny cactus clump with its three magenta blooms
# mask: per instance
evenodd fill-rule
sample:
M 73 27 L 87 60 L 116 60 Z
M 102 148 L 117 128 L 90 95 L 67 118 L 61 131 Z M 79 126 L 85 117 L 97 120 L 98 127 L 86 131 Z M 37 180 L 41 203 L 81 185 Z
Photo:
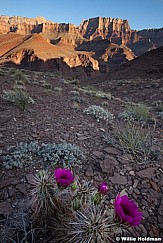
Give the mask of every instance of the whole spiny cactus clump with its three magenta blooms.
M 45 226 L 48 242 L 114 242 L 113 238 L 117 233 L 123 232 L 124 235 L 126 224 L 131 227 L 140 224 L 142 213 L 127 195 L 121 197 L 118 194 L 114 206 L 111 203 L 106 205 L 109 190 L 106 182 L 101 183 L 96 190 L 91 183 L 84 180 L 84 183 L 75 183 L 75 177 L 70 170 L 58 168 L 54 171 L 54 176 L 56 182 L 53 183 L 47 172 L 40 171 L 32 191 L 33 213 L 37 213 L 36 218 L 41 217 L 43 220 L 42 226 Z M 65 191 L 67 194 L 63 197 Z M 67 203 L 69 195 L 70 200 Z M 71 198 L 72 201 L 77 198 L 82 206 L 78 207 L 76 204 L 75 208 L 73 203 L 69 203 Z

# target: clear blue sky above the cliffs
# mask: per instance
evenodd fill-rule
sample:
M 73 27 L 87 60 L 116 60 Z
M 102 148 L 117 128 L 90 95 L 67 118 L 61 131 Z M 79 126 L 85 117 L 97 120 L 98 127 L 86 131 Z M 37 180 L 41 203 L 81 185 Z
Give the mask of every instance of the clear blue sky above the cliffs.
M 163 0 L 0 0 L 0 15 L 44 16 L 79 25 L 82 19 L 128 19 L 132 29 L 163 27 Z

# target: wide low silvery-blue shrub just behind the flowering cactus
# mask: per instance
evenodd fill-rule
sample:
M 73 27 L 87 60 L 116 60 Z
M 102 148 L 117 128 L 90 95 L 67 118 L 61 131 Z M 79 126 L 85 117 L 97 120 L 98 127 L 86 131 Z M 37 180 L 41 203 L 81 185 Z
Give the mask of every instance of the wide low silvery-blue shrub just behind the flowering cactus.
M 4 157 L 4 166 L 8 169 L 23 168 L 32 162 L 37 162 L 38 157 L 53 163 L 54 166 L 68 168 L 80 166 L 80 162 L 84 159 L 82 151 L 72 144 L 30 142 L 10 147 L 8 155 Z

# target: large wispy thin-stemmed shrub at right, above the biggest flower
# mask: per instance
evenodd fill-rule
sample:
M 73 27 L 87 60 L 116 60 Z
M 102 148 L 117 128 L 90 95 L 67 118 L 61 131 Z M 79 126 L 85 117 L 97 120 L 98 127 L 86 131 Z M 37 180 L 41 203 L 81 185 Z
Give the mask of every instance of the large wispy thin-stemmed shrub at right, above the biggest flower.
M 127 121 L 117 126 L 116 134 L 119 145 L 124 152 L 131 154 L 137 162 L 149 162 L 155 160 L 157 151 L 154 151 L 153 131 L 150 127 Z

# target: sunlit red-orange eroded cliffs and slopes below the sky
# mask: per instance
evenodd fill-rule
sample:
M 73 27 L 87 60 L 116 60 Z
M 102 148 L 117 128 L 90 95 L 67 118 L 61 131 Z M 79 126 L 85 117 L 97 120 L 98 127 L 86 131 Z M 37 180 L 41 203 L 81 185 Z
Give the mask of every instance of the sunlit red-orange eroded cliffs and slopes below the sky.
M 83 20 L 77 27 L 44 17 L 0 16 L 1 63 L 46 63 L 48 68 L 52 63 L 54 67 L 64 63 L 68 68 L 108 72 L 160 46 L 163 28 L 136 31 L 128 20 L 96 17 Z

